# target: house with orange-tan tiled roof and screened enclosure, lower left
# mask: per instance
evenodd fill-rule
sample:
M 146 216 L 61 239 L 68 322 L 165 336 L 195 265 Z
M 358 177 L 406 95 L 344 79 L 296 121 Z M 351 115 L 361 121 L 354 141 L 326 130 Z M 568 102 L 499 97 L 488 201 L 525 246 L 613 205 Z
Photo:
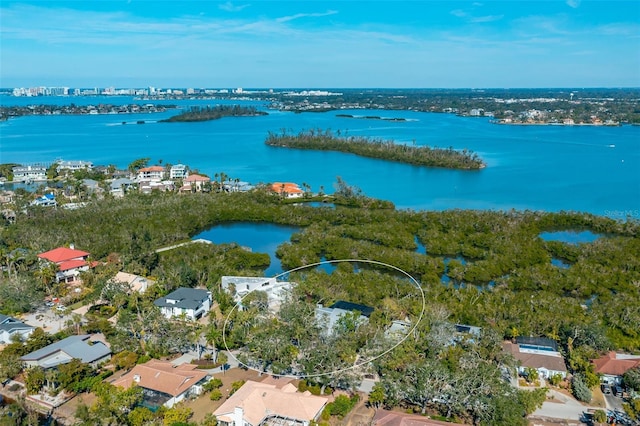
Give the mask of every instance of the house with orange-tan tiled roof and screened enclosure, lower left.
M 195 364 L 176 366 L 168 361 L 152 359 L 136 365 L 111 384 L 125 389 L 135 384 L 143 390 L 145 405 L 171 408 L 191 395 L 202 393 L 202 385 L 209 377 L 207 372 L 196 367 Z

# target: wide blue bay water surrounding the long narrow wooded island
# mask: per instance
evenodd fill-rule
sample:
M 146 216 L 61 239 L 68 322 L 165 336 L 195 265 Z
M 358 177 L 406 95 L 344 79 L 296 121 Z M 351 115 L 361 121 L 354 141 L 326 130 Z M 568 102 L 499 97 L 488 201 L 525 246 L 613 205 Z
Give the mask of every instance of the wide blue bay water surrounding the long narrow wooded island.
M 118 98 L 7 98 L 3 105 L 132 103 Z M 136 101 L 149 103 L 149 101 Z M 153 103 L 156 103 L 155 101 Z M 160 102 L 157 102 L 160 103 Z M 237 101 L 164 101 L 214 105 Z M 262 102 L 245 101 L 265 109 Z M 213 176 L 224 172 L 253 184 L 292 181 L 332 192 L 340 176 L 371 197 L 400 209 L 530 209 L 585 211 L 640 219 L 640 127 L 509 126 L 483 118 L 415 111 L 325 113 L 268 110 L 263 117 L 200 123 L 157 123 L 176 114 L 32 116 L 0 123 L 0 163 L 90 160 L 125 168 L 132 160 L 184 163 Z M 410 121 L 348 119 L 336 114 L 403 117 Z M 146 124 L 127 124 L 145 120 Z M 343 135 L 477 152 L 487 168 L 457 171 L 408 166 L 335 152 L 272 148 L 268 132 L 340 130 Z M 615 147 L 611 147 L 615 145 Z

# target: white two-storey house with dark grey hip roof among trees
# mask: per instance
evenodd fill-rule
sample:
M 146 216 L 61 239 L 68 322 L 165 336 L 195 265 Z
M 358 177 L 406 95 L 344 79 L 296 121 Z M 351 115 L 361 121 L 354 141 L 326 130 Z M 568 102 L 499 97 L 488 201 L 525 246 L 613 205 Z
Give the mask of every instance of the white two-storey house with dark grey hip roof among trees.
M 167 318 L 185 316 L 197 320 L 211 309 L 211 292 L 197 288 L 180 287 L 153 302 Z

